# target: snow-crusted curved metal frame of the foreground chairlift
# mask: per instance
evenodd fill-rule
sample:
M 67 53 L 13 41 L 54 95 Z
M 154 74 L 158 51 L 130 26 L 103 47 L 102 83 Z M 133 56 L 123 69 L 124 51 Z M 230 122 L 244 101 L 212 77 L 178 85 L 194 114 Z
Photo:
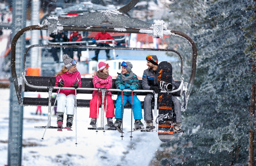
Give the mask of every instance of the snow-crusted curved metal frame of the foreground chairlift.
M 123 49 L 123 50 L 151 50 L 151 51 L 171 51 L 180 56 L 181 59 L 181 82 L 180 87 L 186 91 L 186 98 L 184 103 L 188 103 L 189 94 L 193 87 L 193 82 L 196 75 L 196 58 L 197 49 L 194 41 L 187 35 L 180 31 L 168 30 L 167 25 L 164 21 L 154 21 L 154 23 L 148 23 L 141 21 L 139 19 L 134 19 L 129 16 L 124 15 L 127 11 L 130 11 L 139 0 L 131 0 L 130 3 L 118 10 L 106 10 L 97 11 L 93 13 L 84 12 L 83 16 L 77 16 L 74 18 L 58 20 L 56 17 L 48 17 L 48 20 L 44 22 L 44 25 L 32 25 L 21 29 L 17 34 L 15 34 L 12 45 L 11 45 L 11 72 L 12 79 L 15 87 L 15 91 L 18 98 L 19 105 L 23 105 L 23 100 L 21 96 L 21 90 L 24 91 L 25 84 L 25 74 L 26 74 L 26 54 L 29 49 L 33 47 L 59 47 L 59 48 L 84 48 L 84 49 Z M 126 20 L 126 21 L 124 21 Z M 17 76 L 15 67 L 16 58 L 16 43 L 20 36 L 31 30 L 48 30 L 48 33 L 57 34 L 58 31 L 89 31 L 89 32 L 109 32 L 109 33 L 135 33 L 135 34 L 150 34 L 154 38 L 162 38 L 164 34 L 166 35 L 176 35 L 186 39 L 192 48 L 192 65 L 191 65 L 191 75 L 188 82 L 183 84 L 183 58 L 180 53 L 172 49 L 143 49 L 143 48 L 123 48 L 123 47 L 93 47 L 93 46 L 69 46 L 69 45 L 32 45 L 30 46 L 24 54 L 24 68 L 22 76 Z M 42 88 L 42 87 L 41 87 Z M 48 87 L 49 88 L 49 87 Z M 53 87 L 54 89 L 55 87 Z M 79 89 L 79 88 L 78 88 Z M 181 89 L 181 88 L 180 88 Z M 84 90 L 92 90 L 92 88 L 84 88 Z M 110 89 L 109 89 L 110 90 Z M 116 89 L 111 89 L 113 91 L 118 91 Z M 146 92 L 145 90 L 139 90 L 141 92 Z M 52 91 L 51 91 L 52 92 Z M 151 91 L 150 91 L 151 92 Z M 49 100 L 51 99 L 49 90 Z M 49 102 L 50 103 L 50 102 Z M 49 107 L 51 105 L 49 104 Z M 186 107 L 185 107 L 186 109 Z

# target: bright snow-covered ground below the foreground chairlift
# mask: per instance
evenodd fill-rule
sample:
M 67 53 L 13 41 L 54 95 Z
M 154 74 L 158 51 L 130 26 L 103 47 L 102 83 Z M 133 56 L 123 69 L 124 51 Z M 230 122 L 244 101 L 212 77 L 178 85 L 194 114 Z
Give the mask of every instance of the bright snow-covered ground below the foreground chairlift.
M 40 94 L 41 97 L 48 97 L 47 93 Z M 37 97 L 38 93 L 27 92 L 24 95 Z M 0 89 L 0 166 L 7 164 L 8 158 L 9 96 L 10 89 Z M 77 95 L 77 99 L 89 97 L 91 96 Z M 116 96 L 113 99 L 116 99 Z M 42 107 L 42 111 L 47 113 L 48 108 Z M 122 140 L 121 133 L 117 131 L 88 130 L 87 128 L 90 127 L 89 108 L 77 108 L 77 146 L 75 145 L 75 119 L 72 132 L 64 129 L 63 132 L 57 132 L 57 129 L 47 129 L 42 141 L 45 129 L 37 129 L 34 126 L 45 126 L 47 116 L 31 115 L 31 112 L 36 112 L 35 106 L 24 107 L 22 148 L 22 165 L 24 166 L 143 166 L 149 165 L 161 144 L 157 132 L 132 132 L 131 141 L 131 134 L 127 133 L 131 130 L 131 109 L 124 110 L 125 133 Z M 66 117 L 64 124 L 65 120 Z M 56 116 L 52 117 L 51 123 L 52 126 L 56 126 Z

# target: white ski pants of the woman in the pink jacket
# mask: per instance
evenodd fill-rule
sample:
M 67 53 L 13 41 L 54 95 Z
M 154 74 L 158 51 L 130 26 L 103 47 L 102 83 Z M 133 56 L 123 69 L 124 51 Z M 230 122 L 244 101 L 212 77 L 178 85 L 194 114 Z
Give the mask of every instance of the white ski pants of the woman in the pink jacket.
M 59 93 L 57 98 L 57 112 L 65 112 L 67 115 L 74 115 L 75 113 L 75 94 L 65 95 L 63 93 Z

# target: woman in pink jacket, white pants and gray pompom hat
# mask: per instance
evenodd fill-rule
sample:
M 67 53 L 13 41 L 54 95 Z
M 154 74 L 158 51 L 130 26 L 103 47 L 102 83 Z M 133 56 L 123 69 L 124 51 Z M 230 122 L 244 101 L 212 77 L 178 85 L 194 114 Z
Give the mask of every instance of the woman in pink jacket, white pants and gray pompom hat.
M 76 70 L 76 60 L 71 59 L 67 54 L 62 57 L 65 66 L 56 74 L 55 87 L 81 87 L 81 75 Z M 57 93 L 59 90 L 57 90 Z M 57 125 L 62 127 L 63 115 L 66 108 L 67 127 L 71 129 L 75 113 L 75 90 L 60 89 L 57 98 Z

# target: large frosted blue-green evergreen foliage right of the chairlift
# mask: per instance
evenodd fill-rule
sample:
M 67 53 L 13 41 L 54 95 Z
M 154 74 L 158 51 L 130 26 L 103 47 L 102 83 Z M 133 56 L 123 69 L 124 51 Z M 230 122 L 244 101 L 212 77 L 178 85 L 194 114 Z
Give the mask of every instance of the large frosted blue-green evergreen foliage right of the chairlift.
M 202 21 L 196 19 L 196 26 L 191 26 L 196 28 L 191 31 L 197 32 L 194 41 L 198 64 L 188 109 L 182 112 L 187 134 L 174 135 L 171 142 L 163 144 L 155 165 L 241 165 L 248 161 L 252 76 L 249 55 L 244 54 L 248 41 L 243 28 L 254 12 L 248 8 L 253 1 L 212 0 L 197 4 L 204 10 L 199 15 Z M 194 12 L 192 9 L 187 8 L 183 14 Z

